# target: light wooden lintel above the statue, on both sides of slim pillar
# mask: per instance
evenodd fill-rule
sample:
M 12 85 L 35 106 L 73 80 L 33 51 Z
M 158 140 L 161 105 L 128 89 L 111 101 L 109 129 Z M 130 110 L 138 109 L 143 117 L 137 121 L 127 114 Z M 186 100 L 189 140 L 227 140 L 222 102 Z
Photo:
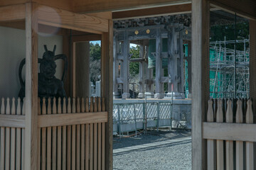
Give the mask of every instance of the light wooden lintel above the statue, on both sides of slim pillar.
M 38 16 L 37 21 L 39 24 L 79 30 L 87 33 L 102 34 L 108 32 L 108 20 L 106 18 L 73 13 L 60 8 L 40 4 L 34 5 L 36 6 L 36 15 Z M 0 23 L 25 21 L 26 6 L 25 4 L 1 6 L 0 13 Z

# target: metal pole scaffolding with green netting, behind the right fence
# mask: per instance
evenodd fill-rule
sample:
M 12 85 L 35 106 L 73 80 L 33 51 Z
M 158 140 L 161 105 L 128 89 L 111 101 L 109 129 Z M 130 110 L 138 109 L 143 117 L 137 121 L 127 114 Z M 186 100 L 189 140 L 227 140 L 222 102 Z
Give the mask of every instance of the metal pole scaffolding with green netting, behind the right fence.
M 248 97 L 249 40 L 210 42 L 210 98 Z

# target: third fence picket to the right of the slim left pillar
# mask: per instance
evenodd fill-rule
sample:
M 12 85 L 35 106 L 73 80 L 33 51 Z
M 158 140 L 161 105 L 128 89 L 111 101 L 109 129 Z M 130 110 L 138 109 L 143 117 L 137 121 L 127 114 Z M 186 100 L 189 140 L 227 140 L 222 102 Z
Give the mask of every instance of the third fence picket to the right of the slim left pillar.
M 51 111 L 51 106 L 50 106 L 50 98 L 48 98 L 48 106 L 47 106 L 47 115 L 51 115 L 52 111 Z M 46 167 L 47 169 L 51 169 L 51 150 L 52 150 L 52 140 L 51 140 L 51 127 L 47 128 L 47 149 L 46 149 Z

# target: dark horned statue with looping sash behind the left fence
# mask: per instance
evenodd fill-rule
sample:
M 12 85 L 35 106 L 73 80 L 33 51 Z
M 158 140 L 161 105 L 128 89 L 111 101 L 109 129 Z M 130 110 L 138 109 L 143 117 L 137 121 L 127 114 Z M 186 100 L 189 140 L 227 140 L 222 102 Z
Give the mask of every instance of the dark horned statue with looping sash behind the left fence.
M 64 90 L 63 81 L 65 81 L 68 60 L 65 55 L 55 55 L 56 45 L 54 45 L 53 51 L 48 51 L 46 45 L 44 45 L 46 52 L 43 53 L 43 59 L 38 59 L 40 64 L 40 72 L 38 73 L 38 97 L 40 98 L 67 98 Z M 55 60 L 62 59 L 64 61 L 64 69 L 62 79 L 55 77 L 56 63 Z M 25 64 L 25 59 L 21 61 L 18 68 L 18 78 L 21 82 L 21 90 L 18 96 L 22 99 L 25 97 L 25 81 L 21 77 L 22 68 Z

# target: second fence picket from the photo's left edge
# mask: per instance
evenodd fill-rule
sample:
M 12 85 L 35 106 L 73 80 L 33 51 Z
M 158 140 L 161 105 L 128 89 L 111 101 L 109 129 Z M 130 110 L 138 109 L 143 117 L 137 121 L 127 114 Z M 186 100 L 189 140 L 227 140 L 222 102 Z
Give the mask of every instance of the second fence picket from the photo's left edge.
M 6 99 L 6 115 L 11 114 L 10 110 L 10 98 Z M 6 128 L 6 148 L 5 148 L 5 169 L 10 169 L 10 159 L 11 159 L 11 129 Z

